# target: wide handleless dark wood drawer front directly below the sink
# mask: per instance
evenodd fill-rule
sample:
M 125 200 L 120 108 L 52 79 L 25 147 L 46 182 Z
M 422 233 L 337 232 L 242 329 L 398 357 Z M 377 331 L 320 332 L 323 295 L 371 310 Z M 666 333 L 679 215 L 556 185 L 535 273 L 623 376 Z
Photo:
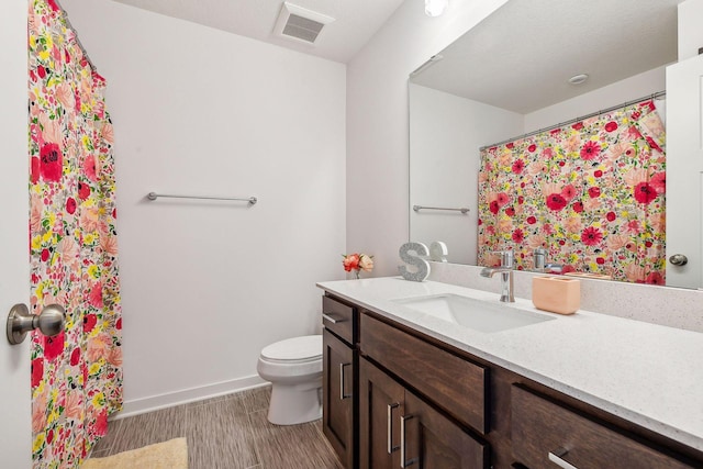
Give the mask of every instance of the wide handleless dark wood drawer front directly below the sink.
M 457 420 L 488 433 L 488 370 L 366 314 L 361 351 Z

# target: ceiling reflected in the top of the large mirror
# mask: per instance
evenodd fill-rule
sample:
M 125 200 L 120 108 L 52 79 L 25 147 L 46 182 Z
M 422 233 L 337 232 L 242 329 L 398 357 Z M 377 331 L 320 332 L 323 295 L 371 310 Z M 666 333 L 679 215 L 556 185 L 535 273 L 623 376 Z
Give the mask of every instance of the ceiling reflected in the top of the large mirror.
M 676 62 L 681 1 L 510 0 L 412 81 L 533 112 Z

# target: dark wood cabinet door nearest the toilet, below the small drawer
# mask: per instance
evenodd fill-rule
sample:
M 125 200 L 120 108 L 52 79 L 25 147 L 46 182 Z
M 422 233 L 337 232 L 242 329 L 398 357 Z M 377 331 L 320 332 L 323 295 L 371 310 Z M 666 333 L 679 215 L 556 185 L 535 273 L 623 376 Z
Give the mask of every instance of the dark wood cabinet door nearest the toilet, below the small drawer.
M 356 354 L 327 330 L 323 330 L 322 429 L 339 460 L 354 468 L 354 401 Z

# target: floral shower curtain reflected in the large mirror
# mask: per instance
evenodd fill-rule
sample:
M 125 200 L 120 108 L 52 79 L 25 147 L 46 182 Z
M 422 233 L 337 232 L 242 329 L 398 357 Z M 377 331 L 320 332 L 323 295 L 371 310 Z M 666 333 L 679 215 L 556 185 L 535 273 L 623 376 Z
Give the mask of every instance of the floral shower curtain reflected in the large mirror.
M 665 131 L 651 100 L 481 153 L 479 265 L 665 282 Z

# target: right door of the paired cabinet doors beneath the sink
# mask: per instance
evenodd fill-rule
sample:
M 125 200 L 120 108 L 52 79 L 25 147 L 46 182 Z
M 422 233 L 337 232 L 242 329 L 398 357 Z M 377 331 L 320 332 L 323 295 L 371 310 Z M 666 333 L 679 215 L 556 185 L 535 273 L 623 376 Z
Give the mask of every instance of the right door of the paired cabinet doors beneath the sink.
M 405 391 L 401 417 L 400 467 L 481 469 L 488 467 L 489 446 Z

